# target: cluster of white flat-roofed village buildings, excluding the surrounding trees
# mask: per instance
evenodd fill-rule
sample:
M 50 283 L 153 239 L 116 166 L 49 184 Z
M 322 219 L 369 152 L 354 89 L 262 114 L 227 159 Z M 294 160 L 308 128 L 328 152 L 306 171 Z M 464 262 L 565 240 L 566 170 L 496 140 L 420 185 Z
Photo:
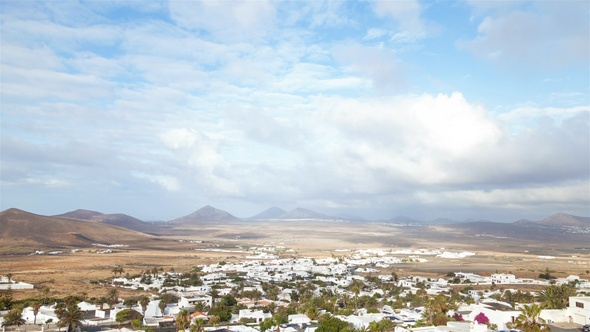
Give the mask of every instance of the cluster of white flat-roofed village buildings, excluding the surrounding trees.
M 313 258 L 278 258 L 273 250 L 265 249 L 258 251 L 256 257 L 267 257 L 268 259 L 247 259 L 241 262 L 219 262 L 211 265 L 201 265 L 198 271 L 198 283 L 179 282 L 186 278 L 186 274 L 170 272 L 158 272 L 146 277 L 114 278 L 113 287 L 146 290 L 152 292 L 147 306 L 139 302 L 131 305 L 131 308 L 143 315 L 143 326 L 147 328 L 166 328 L 175 324 L 177 316 L 183 310 L 191 313 L 191 320 L 208 321 L 211 316 L 208 309 L 221 301 L 224 296 L 231 294 L 239 288 L 241 294 L 258 294 L 251 297 L 238 297 L 236 301 L 240 304 L 241 310 L 232 314 L 225 330 L 231 331 L 260 331 L 260 323 L 271 318 L 272 313 L 269 306 L 285 307 L 295 301 L 292 295 L 295 289 L 285 285 L 293 285 L 293 282 L 312 282 L 314 292 L 319 296 L 328 291 L 331 294 L 355 298 L 361 296 L 375 297 L 394 301 L 386 290 L 379 285 L 389 284 L 400 290 L 401 295 L 425 294 L 437 295 L 450 293 L 453 284 L 461 285 L 496 285 L 500 287 L 489 287 L 486 290 L 469 290 L 466 296 L 471 301 L 466 301 L 455 312 L 460 314 L 464 321 L 449 322 L 447 326 L 415 327 L 414 325 L 423 318 L 424 307 L 411 307 L 409 304 L 403 309 L 393 309 L 389 305 L 383 305 L 378 312 L 368 312 L 366 309 L 357 309 L 352 314 L 337 316 L 342 321 L 351 323 L 357 329 L 367 328 L 371 322 L 378 322 L 383 319 L 391 320 L 396 325 L 396 331 L 406 332 L 429 332 L 429 331 L 459 331 L 459 332 L 484 332 L 489 325 L 475 323 L 478 314 L 484 314 L 489 318 L 497 329 L 508 328 L 509 323 L 514 322 L 520 314 L 518 305 L 512 306 L 508 303 L 494 300 L 502 291 L 510 289 L 511 285 L 535 284 L 549 285 L 548 280 L 522 279 L 513 274 L 496 273 L 491 276 L 481 276 L 474 273 L 453 272 L 446 278 L 427 278 L 421 276 L 409 276 L 398 278 L 395 273 L 382 273 L 392 265 L 402 262 L 425 260 L 422 256 L 436 255 L 441 258 L 464 258 L 474 253 L 452 253 L 449 251 L 387 251 L 381 249 L 369 249 L 351 251 L 346 257 L 335 256 L 323 259 Z M 403 257 L 398 257 L 402 255 Z M 254 257 L 254 256 L 253 256 Z M 389 271 L 392 269 L 390 268 Z M 196 272 L 195 272 L 196 273 Z M 378 279 L 381 283 L 371 282 Z M 361 282 L 363 287 L 356 292 L 353 285 Z M 552 284 L 577 283 L 578 287 L 587 287 L 590 290 L 587 280 L 577 276 L 555 279 Z M 265 291 L 264 285 L 276 285 L 274 294 Z M 515 291 L 516 292 L 516 291 Z M 175 303 L 162 305 L 161 294 L 173 294 L 177 299 Z M 123 305 L 122 299 L 110 309 L 104 309 L 103 305 L 95 305 L 81 302 L 78 306 L 86 312 L 85 325 L 114 324 L 118 312 L 129 308 Z M 37 315 L 33 315 L 32 308 L 25 308 L 23 316 L 28 323 L 34 321 L 47 322 L 57 321 L 54 306 L 43 306 Z M 307 331 L 312 332 L 317 328 L 315 317 L 308 317 L 305 314 L 294 314 L 288 316 L 288 323 L 283 324 L 280 331 Z M 567 309 L 544 310 L 541 318 L 547 322 L 570 322 L 577 324 L 590 323 L 590 297 L 576 296 L 570 298 Z M 225 324 L 225 323 L 224 323 Z M 217 331 L 216 327 L 206 327 L 205 330 Z

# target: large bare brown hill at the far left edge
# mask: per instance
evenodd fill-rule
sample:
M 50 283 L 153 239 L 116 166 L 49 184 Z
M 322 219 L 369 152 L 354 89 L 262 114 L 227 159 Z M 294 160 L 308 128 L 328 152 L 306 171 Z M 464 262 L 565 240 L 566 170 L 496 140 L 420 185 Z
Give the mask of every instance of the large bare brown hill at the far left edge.
M 153 237 L 137 231 L 65 217 L 49 217 L 19 209 L 0 212 L 0 252 L 89 247 L 93 243 L 131 244 Z

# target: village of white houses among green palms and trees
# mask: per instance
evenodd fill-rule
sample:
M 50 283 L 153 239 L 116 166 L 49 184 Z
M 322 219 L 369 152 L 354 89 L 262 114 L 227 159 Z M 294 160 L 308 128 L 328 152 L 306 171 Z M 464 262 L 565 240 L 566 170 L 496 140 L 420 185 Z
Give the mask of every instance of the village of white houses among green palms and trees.
M 115 267 L 112 280 L 103 281 L 108 296 L 93 301 L 72 296 L 64 303 L 42 299 L 10 308 L 4 295 L 0 322 L 5 330 L 20 331 L 485 332 L 526 330 L 519 323 L 532 308 L 541 326 L 590 324 L 590 283 L 579 276 L 555 278 L 547 270 L 540 278 L 461 271 L 439 278 L 399 277 L 395 265 L 402 262 L 476 253 L 343 249 L 336 251 L 342 255 L 326 258 L 281 258 L 286 251 L 253 247 L 245 250 L 243 260 L 198 265 L 185 272 L 153 268 L 123 276 L 124 269 Z M 517 289 L 522 285 L 541 290 L 523 292 Z M 3 294 L 33 287 L 9 277 L 3 277 L 0 286 Z M 124 299 L 119 289 L 152 296 Z M 73 325 L 64 319 L 71 316 L 70 309 L 79 312 Z

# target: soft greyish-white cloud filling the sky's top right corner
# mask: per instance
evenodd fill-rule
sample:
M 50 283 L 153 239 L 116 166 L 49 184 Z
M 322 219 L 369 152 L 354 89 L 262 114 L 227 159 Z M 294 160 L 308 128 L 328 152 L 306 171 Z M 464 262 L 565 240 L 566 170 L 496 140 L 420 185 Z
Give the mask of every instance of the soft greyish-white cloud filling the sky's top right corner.
M 501 64 L 564 68 L 588 62 L 588 2 L 540 1 L 524 8 L 486 16 L 478 36 L 459 46 Z

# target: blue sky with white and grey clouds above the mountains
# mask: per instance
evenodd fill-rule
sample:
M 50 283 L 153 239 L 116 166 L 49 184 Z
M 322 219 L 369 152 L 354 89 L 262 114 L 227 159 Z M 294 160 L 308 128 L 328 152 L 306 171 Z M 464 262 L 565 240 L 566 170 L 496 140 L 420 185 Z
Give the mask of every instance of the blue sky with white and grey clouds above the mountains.
M 0 208 L 590 216 L 588 1 L 0 1 Z

